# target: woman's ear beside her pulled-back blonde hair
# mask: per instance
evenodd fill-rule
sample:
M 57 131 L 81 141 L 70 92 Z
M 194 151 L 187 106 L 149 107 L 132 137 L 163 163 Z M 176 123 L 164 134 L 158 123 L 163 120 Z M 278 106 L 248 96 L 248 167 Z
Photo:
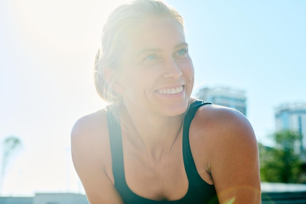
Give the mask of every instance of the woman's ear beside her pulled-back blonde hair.
M 103 68 L 103 76 L 106 80 L 106 83 L 112 88 L 116 93 L 122 93 L 124 91 L 123 85 L 119 82 L 119 73 L 113 68 Z

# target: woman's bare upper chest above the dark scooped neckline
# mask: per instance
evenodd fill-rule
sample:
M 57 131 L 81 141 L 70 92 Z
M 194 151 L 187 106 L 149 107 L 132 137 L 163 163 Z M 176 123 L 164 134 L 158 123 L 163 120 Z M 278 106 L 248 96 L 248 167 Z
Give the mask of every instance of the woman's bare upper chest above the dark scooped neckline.
M 179 141 L 181 143 L 181 141 Z M 181 145 L 153 158 L 124 146 L 124 174 L 132 192 L 151 200 L 179 200 L 188 191 Z

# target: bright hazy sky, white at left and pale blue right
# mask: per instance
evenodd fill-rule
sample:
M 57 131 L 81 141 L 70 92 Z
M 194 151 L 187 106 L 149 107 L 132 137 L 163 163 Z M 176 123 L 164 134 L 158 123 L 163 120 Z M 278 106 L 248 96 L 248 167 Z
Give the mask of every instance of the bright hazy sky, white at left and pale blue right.
M 126 0 L 0 0 L 0 140 L 22 149 L 2 195 L 83 192 L 70 156 L 74 122 L 105 106 L 92 66 L 103 23 Z M 245 90 L 269 145 L 274 108 L 306 102 L 305 0 L 167 0 L 184 17 L 196 85 Z

